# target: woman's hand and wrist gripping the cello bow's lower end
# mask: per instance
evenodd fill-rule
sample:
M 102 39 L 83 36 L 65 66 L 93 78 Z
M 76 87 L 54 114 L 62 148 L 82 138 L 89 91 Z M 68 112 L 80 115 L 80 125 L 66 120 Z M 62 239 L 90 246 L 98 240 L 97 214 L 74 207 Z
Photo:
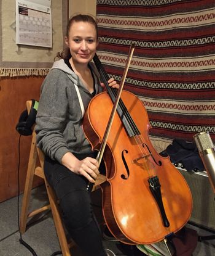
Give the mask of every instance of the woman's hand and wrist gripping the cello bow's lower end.
M 95 183 L 96 178 L 100 174 L 98 161 L 92 157 L 79 160 L 72 153 L 68 152 L 63 155 L 61 163 L 77 175 L 85 176 L 91 183 Z

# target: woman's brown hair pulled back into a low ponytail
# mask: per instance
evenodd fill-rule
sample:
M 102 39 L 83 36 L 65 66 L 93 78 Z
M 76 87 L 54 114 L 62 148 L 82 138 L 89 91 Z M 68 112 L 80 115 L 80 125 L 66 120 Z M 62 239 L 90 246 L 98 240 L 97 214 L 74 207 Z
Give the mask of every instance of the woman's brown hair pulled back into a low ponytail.
M 76 15 L 72 16 L 68 20 L 68 23 L 66 25 L 66 36 L 67 37 L 69 37 L 69 30 L 71 28 L 71 25 L 74 22 L 88 22 L 88 23 L 92 24 L 95 27 L 96 39 L 98 40 L 98 25 L 96 23 L 95 18 L 92 15 L 76 14 Z M 70 59 L 71 58 L 71 53 L 70 53 L 69 47 L 66 47 L 65 49 L 63 49 L 62 52 L 58 52 L 56 57 L 58 57 L 59 59 Z

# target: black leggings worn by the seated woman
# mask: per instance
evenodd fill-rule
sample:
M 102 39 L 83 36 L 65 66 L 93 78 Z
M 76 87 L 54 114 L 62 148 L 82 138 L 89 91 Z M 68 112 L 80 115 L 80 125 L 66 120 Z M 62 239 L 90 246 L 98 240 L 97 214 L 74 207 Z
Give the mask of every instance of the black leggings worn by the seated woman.
M 87 156 L 93 155 L 76 155 L 79 159 Z M 44 173 L 60 200 L 63 221 L 74 242 L 87 256 L 105 256 L 100 227 L 86 189 L 87 179 L 49 157 L 45 157 Z

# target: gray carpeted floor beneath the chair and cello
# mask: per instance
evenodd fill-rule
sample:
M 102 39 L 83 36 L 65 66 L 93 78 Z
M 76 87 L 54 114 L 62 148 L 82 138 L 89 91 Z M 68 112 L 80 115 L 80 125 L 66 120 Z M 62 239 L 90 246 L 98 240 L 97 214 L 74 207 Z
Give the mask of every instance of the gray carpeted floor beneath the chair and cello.
M 93 192 L 93 204 L 98 221 L 102 221 L 101 216 L 101 194 L 100 191 Z M 17 197 L 6 200 L 0 204 L 0 255 L 1 256 L 50 256 L 60 250 L 57 234 L 53 225 L 52 214 L 42 213 L 39 220 L 31 219 L 31 225 L 23 234 L 23 240 L 29 244 L 36 254 L 31 253 L 25 246 L 20 244 L 20 234 L 18 232 L 17 221 Z M 30 209 L 36 209 L 47 202 L 44 186 L 33 189 L 31 193 Z M 20 207 L 22 205 L 22 195 L 20 196 Z M 37 217 L 38 218 L 38 217 Z M 188 225 L 189 228 L 197 229 L 199 235 L 209 235 L 208 231 Z M 121 242 L 104 241 L 104 247 L 109 248 L 120 256 L 143 256 L 143 252 L 134 246 L 128 246 Z M 57 255 L 57 254 L 55 254 Z M 60 255 L 60 254 L 59 254 Z M 72 248 L 72 256 L 84 256 L 77 247 Z M 215 239 L 198 242 L 193 256 L 213 256 L 215 255 Z M 96 256 L 96 255 L 95 255 Z M 181 255 L 182 256 L 182 255 Z

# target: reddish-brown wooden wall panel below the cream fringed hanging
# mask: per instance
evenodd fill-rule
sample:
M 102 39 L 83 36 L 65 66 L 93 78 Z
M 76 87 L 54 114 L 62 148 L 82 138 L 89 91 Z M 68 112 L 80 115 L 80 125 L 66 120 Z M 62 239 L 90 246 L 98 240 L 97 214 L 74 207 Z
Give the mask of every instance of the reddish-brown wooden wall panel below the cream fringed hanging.
M 15 130 L 18 119 L 26 109 L 28 99 L 39 100 L 41 76 L 1 78 L 0 80 L 0 202 L 17 196 L 18 192 L 18 141 Z M 20 191 L 25 186 L 31 136 L 20 139 Z M 42 183 L 35 178 L 34 186 Z

